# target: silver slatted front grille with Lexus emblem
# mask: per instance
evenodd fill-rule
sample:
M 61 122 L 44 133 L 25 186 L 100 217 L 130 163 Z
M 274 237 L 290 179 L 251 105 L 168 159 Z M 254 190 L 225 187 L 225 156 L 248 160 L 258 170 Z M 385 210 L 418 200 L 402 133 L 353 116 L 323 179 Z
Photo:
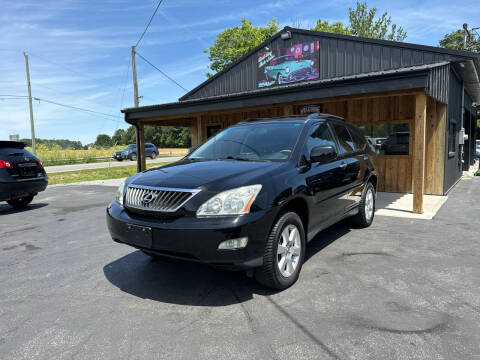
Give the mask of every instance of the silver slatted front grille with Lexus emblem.
M 131 209 L 175 212 L 190 200 L 199 190 L 158 188 L 130 185 L 125 194 L 125 207 Z

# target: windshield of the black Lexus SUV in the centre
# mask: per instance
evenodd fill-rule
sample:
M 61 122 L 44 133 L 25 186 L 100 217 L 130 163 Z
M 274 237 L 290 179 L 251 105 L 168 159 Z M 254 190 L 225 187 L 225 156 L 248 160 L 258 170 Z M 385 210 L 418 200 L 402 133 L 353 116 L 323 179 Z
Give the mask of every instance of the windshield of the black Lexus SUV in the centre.
M 191 153 L 192 160 L 286 161 L 302 129 L 299 123 L 264 123 L 223 130 Z

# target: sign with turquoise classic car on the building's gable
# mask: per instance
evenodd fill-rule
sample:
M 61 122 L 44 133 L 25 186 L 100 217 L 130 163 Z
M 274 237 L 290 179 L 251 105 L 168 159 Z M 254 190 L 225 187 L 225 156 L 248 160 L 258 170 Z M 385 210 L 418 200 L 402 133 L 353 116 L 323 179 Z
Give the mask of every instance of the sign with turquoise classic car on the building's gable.
M 290 48 L 258 54 L 258 87 L 317 79 L 319 42 L 296 44 Z

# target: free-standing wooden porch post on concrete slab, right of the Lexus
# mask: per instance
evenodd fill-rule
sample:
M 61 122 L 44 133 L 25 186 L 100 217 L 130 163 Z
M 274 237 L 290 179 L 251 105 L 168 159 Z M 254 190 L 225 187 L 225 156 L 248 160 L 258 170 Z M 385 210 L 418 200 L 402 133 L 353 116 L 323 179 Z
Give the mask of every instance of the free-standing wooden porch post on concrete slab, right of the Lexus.
M 415 95 L 415 145 L 413 147 L 413 212 L 423 213 L 425 193 L 425 142 L 426 142 L 427 96 Z

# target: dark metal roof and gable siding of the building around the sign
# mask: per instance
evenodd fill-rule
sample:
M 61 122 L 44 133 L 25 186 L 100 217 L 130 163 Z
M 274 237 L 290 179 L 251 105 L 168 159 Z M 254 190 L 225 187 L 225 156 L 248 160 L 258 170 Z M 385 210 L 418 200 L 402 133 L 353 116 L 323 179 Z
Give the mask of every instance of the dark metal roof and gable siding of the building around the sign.
M 291 33 L 290 40 L 281 39 L 281 34 L 287 31 Z M 318 78 L 258 86 L 259 51 L 313 41 L 319 43 Z M 285 27 L 179 101 L 122 112 L 127 122 L 135 123 L 136 119 L 152 116 L 419 88 L 446 103 L 451 68 L 462 77 L 473 101 L 480 102 L 480 55 L 477 53 Z

